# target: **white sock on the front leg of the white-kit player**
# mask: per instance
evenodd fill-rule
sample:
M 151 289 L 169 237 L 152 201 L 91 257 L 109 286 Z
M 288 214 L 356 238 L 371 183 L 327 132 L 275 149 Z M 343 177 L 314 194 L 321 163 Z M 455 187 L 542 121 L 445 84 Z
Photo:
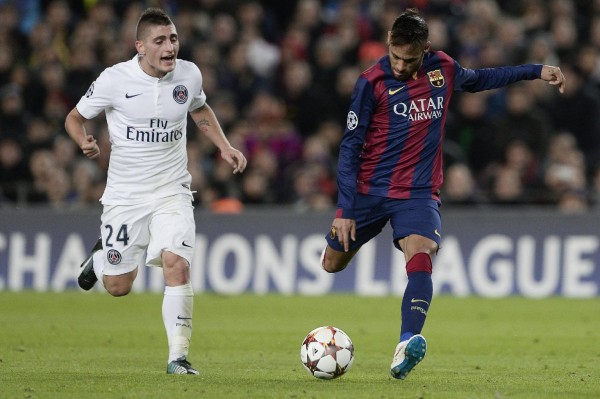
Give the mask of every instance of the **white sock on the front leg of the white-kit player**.
M 165 287 L 162 312 L 169 342 L 169 362 L 188 354 L 193 310 L 194 290 L 190 283 Z

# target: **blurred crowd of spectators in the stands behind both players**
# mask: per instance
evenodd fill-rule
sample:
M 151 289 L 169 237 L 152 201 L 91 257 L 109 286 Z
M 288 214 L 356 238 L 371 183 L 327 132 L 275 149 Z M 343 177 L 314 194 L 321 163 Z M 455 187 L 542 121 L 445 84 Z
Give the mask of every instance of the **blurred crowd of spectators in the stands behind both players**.
M 232 175 L 188 124 L 197 207 L 335 207 L 350 94 L 407 7 L 427 19 L 432 48 L 464 67 L 543 63 L 567 77 L 564 95 L 540 80 L 454 94 L 444 206 L 600 205 L 599 0 L 0 0 L 0 206 L 99 206 L 104 116 L 88 123 L 96 160 L 64 118 L 104 68 L 134 56 L 149 6 L 173 17 L 179 58 L 200 67 L 208 103 L 249 160 Z

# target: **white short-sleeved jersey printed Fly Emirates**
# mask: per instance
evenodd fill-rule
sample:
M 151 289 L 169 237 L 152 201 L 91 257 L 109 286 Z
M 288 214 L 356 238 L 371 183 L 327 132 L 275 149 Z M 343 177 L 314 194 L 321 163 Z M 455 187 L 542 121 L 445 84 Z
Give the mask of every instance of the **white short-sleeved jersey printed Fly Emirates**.
M 102 203 L 190 194 L 187 115 L 205 102 L 202 75 L 189 61 L 178 59 L 160 79 L 142 70 L 137 55 L 105 69 L 77 103 L 86 119 L 106 113 L 112 149 Z

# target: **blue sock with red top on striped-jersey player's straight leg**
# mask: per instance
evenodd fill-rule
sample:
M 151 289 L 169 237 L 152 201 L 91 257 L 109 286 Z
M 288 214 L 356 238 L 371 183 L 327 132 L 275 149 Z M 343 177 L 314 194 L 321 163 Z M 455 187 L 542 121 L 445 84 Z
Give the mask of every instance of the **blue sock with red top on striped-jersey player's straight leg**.
M 406 264 L 408 284 L 402 298 L 400 341 L 420 334 L 433 296 L 431 257 L 420 252 Z

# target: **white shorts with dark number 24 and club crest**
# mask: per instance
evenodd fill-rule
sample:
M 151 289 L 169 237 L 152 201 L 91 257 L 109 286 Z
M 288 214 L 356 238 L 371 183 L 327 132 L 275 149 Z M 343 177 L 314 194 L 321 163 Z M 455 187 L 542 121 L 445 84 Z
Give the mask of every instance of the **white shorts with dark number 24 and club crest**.
M 192 262 L 196 224 L 188 195 L 135 205 L 105 205 L 101 219 L 106 275 L 129 273 L 141 265 L 162 267 L 163 251 Z

